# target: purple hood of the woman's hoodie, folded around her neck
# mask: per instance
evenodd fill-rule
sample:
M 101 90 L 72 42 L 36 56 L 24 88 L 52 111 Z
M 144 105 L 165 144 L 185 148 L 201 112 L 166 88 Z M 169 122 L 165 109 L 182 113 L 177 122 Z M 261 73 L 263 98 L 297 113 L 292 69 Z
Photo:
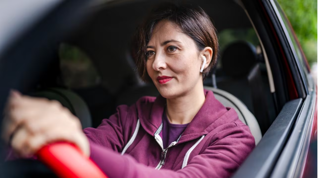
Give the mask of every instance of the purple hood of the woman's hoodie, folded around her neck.
M 204 89 L 205 101 L 201 109 L 194 116 L 182 133 L 179 142 L 188 142 L 206 135 L 218 126 L 234 121 L 238 118 L 232 108 L 225 108 L 215 97 L 211 90 Z M 162 123 L 162 114 L 166 98 L 144 96 L 136 102 L 138 118 L 142 127 L 150 135 L 154 135 Z

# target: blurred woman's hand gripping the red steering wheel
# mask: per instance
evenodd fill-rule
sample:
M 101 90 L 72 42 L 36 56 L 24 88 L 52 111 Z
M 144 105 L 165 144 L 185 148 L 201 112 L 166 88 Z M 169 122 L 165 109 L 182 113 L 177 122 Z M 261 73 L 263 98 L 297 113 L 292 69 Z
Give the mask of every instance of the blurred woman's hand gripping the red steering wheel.
M 34 155 L 48 143 L 77 145 L 90 155 L 89 142 L 79 119 L 57 101 L 11 91 L 3 121 L 3 139 L 22 157 Z

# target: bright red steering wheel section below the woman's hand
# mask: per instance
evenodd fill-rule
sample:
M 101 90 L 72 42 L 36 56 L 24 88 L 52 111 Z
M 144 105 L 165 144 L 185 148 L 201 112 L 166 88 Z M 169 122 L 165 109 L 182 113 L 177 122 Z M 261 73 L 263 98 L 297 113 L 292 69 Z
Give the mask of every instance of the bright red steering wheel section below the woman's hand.
M 61 178 L 107 178 L 100 168 L 71 143 L 53 143 L 41 148 L 38 159 Z

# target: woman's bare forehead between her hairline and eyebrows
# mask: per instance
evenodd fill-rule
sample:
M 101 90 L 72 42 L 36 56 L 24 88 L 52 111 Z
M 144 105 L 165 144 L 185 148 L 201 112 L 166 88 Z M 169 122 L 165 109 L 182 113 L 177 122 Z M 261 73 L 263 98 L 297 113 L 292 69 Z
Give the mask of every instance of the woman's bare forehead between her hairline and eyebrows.
M 160 21 L 155 26 L 148 44 L 155 45 L 154 43 L 163 43 L 167 40 L 177 40 L 181 43 L 189 43 L 189 40 L 192 39 L 184 34 L 178 25 L 166 20 Z

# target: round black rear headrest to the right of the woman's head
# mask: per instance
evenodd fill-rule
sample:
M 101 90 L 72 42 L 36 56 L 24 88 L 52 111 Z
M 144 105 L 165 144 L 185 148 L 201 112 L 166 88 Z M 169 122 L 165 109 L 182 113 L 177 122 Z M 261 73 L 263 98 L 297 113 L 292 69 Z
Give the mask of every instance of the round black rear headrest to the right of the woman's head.
M 256 48 L 251 43 L 238 41 L 225 48 L 221 62 L 227 76 L 240 77 L 249 73 L 256 60 Z

